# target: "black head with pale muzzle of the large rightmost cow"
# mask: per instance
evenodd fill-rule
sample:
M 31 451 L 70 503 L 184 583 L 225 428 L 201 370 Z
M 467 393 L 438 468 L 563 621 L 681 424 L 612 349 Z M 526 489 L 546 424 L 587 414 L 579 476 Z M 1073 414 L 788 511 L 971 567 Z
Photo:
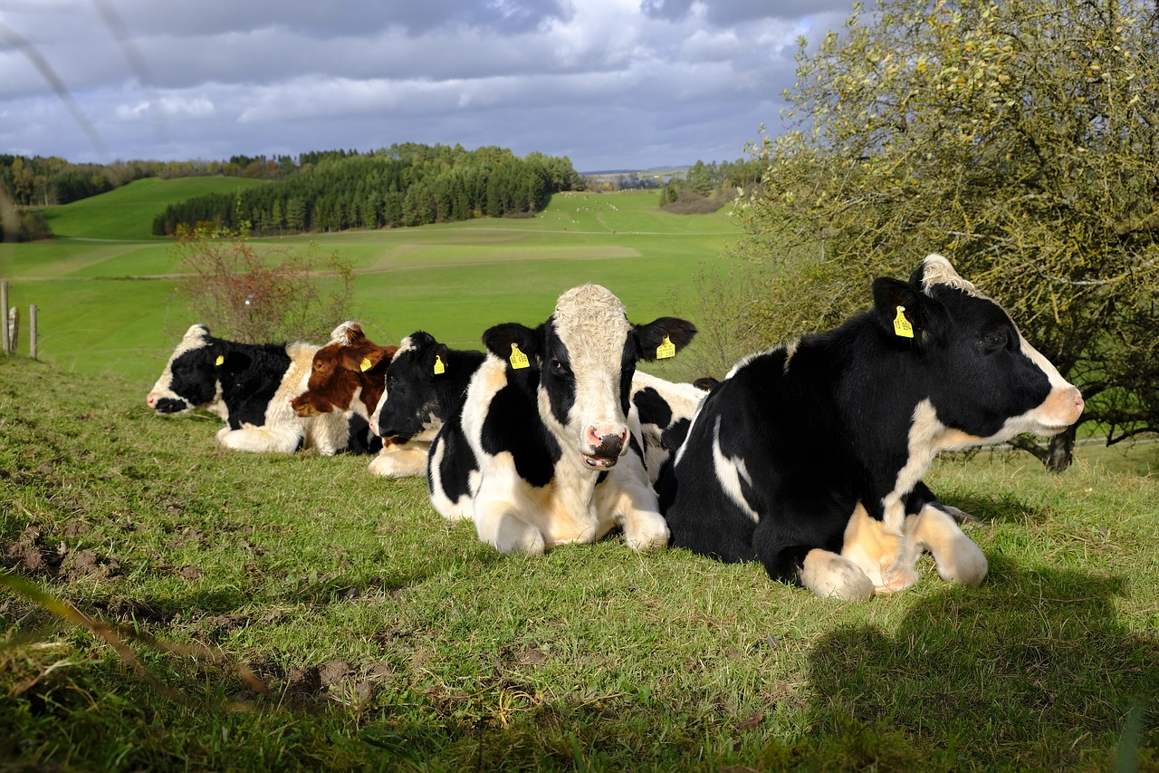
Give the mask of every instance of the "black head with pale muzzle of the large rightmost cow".
M 921 388 L 935 416 L 914 419 L 953 431 L 943 447 L 1054 435 L 1083 413 L 1079 390 L 941 255 L 927 257 L 909 282 L 876 280 L 873 294 L 887 339 L 926 364 Z

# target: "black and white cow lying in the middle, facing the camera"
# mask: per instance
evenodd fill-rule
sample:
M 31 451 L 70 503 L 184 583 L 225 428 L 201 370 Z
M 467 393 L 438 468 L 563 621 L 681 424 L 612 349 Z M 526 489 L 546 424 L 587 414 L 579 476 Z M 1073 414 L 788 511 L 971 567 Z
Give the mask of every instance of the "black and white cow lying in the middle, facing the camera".
M 694 334 L 675 317 L 629 323 L 620 299 L 598 284 L 561 295 L 537 327 L 487 330 L 487 357 L 438 435 L 461 433 L 466 448 L 432 448 L 428 469 L 474 465 L 471 516 L 479 539 L 504 554 L 593 542 L 617 526 L 634 550 L 665 546 L 630 410 L 632 377 L 639 361 L 672 356 Z

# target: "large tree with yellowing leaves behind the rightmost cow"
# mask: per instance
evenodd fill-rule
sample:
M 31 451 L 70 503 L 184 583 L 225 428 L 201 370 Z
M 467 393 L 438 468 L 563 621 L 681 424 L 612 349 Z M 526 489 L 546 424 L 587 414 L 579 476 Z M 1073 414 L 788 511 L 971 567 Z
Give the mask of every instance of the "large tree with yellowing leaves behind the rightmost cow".
M 793 128 L 750 149 L 767 168 L 737 253 L 775 277 L 738 302 L 745 334 L 836 324 L 872 277 L 943 252 L 1083 389 L 1108 443 L 1159 429 L 1157 13 L 883 0 L 801 41 Z M 1060 470 L 1076 429 L 1015 445 Z

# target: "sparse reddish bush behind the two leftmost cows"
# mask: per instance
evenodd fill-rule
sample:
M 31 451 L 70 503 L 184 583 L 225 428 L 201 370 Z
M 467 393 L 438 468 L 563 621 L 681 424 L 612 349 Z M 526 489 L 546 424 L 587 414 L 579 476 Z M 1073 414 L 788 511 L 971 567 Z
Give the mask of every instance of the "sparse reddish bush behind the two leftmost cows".
M 353 274 L 333 252 L 258 248 L 245 231 L 178 229 L 177 292 L 217 335 L 249 344 L 326 340 L 350 316 Z

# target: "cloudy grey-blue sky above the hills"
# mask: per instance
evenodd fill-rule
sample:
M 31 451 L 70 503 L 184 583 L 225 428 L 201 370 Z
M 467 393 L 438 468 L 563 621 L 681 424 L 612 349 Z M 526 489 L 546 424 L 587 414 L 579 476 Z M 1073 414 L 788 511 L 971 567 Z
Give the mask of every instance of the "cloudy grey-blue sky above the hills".
M 853 0 L 0 0 L 0 153 L 745 157 Z

